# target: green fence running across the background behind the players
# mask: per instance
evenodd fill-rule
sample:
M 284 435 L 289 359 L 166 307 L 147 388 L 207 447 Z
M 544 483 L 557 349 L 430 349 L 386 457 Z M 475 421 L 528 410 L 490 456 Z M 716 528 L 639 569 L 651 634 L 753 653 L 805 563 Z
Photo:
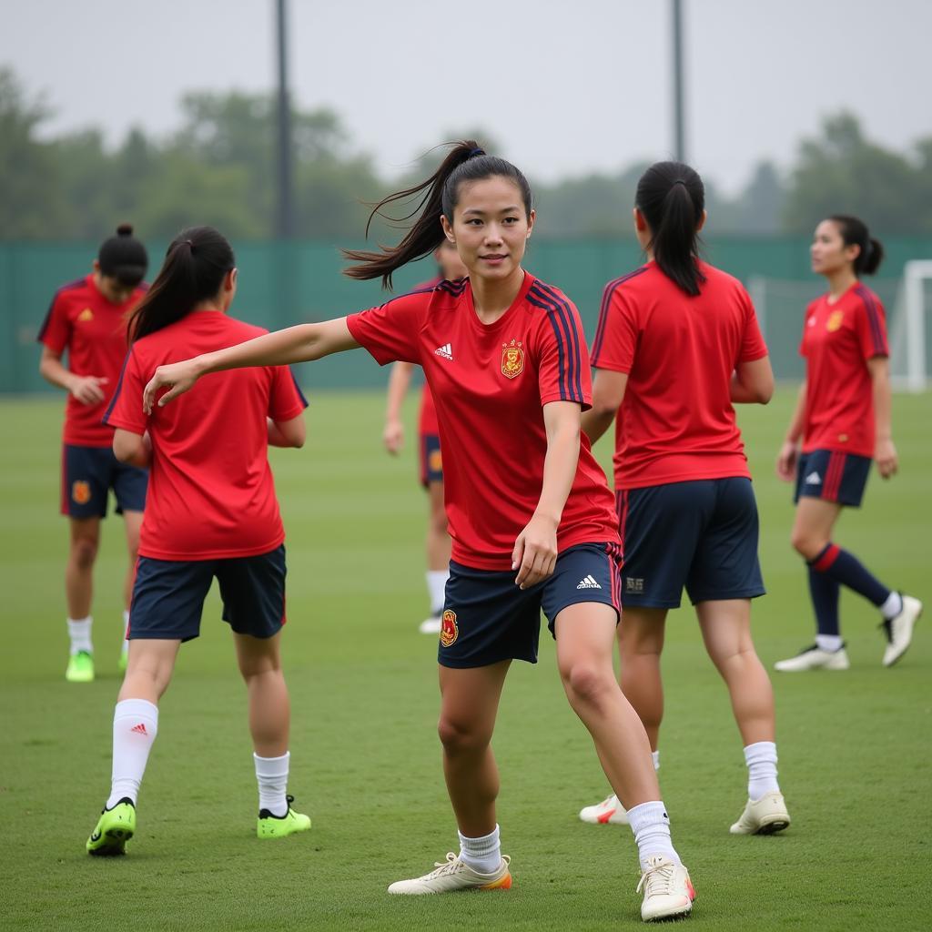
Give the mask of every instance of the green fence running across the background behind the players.
M 148 245 L 154 275 L 165 243 Z M 886 295 L 895 293 L 896 280 L 906 261 L 932 257 L 932 240 L 890 240 L 884 245 L 886 280 L 878 280 L 878 285 L 887 299 Z M 0 391 L 48 390 L 37 371 L 39 350 L 35 336 L 55 289 L 62 282 L 86 274 L 96 249 L 97 244 L 91 243 L 0 244 L 0 320 L 4 328 L 0 344 Z M 385 300 L 377 283 L 351 281 L 341 274 L 344 263 L 335 245 L 241 243 L 236 244 L 236 251 L 240 292 L 233 312 L 243 320 L 269 329 L 326 320 Z M 814 294 L 819 289 L 820 282 L 809 271 L 809 242 L 805 239 L 707 240 L 706 258 L 746 283 L 758 277 L 810 281 Z M 602 286 L 637 267 L 640 261 L 633 241 L 532 240 L 525 264 L 543 281 L 561 288 L 575 301 L 591 337 Z M 405 268 L 396 276 L 395 291 L 402 293 L 432 274 L 430 263 Z M 778 314 L 767 315 L 765 335 L 778 377 L 797 377 L 800 373 L 796 346 L 802 310 L 802 302 L 799 308 L 790 303 Z M 311 390 L 371 388 L 384 385 L 386 378 L 363 352 L 305 366 L 300 377 Z

